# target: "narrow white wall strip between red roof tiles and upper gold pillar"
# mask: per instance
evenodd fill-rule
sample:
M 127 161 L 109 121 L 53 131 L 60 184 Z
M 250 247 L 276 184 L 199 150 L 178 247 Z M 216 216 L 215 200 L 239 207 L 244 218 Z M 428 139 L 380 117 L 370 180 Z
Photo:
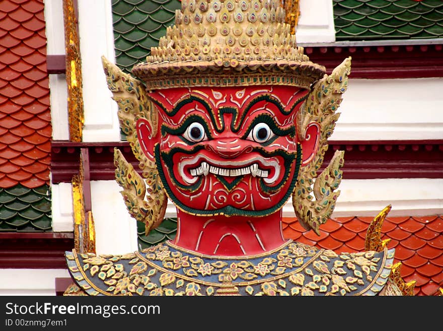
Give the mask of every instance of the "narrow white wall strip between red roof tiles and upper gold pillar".
M 44 14 L 46 20 L 47 54 L 64 54 L 63 2 L 60 0 L 45 0 Z M 49 89 L 52 139 L 69 140 L 66 76 L 64 74 L 49 75 Z

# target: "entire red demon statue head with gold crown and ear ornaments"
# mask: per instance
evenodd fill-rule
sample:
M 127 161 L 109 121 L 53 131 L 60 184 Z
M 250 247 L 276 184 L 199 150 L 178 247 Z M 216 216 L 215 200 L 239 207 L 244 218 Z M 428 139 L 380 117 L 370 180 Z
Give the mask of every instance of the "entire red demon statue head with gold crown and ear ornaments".
M 300 222 L 318 232 L 342 155 L 322 185 L 314 178 L 350 61 L 325 75 L 290 30 L 279 1 L 182 1 L 175 25 L 132 69 L 144 85 L 125 78 L 138 107 L 114 93 L 141 168 L 151 169 L 150 193 L 186 214 L 227 217 L 274 214 L 292 194 Z

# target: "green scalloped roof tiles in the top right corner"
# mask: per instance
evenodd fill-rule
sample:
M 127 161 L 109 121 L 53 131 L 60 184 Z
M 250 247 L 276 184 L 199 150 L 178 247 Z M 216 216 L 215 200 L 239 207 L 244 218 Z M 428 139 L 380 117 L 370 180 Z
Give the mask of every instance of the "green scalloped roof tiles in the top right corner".
M 333 0 L 336 40 L 443 37 L 441 0 Z

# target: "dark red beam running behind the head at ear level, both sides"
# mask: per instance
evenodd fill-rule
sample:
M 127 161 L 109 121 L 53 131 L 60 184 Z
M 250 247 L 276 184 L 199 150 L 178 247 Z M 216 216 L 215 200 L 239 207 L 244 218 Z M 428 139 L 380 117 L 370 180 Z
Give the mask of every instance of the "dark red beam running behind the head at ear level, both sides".
M 345 151 L 343 178 L 443 178 L 443 140 L 427 141 L 330 141 L 326 166 L 335 150 Z M 79 171 L 80 150 L 89 152 L 90 180 L 114 180 L 114 147 L 120 149 L 134 169 L 138 161 L 129 143 L 52 142 L 53 183 L 70 182 Z

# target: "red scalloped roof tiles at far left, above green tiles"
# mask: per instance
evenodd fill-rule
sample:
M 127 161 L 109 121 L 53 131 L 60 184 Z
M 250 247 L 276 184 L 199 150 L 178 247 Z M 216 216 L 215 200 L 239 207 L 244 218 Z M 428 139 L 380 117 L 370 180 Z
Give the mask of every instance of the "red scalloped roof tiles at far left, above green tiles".
M 43 10 L 43 0 L 0 2 L 2 188 L 49 184 L 52 129 Z

